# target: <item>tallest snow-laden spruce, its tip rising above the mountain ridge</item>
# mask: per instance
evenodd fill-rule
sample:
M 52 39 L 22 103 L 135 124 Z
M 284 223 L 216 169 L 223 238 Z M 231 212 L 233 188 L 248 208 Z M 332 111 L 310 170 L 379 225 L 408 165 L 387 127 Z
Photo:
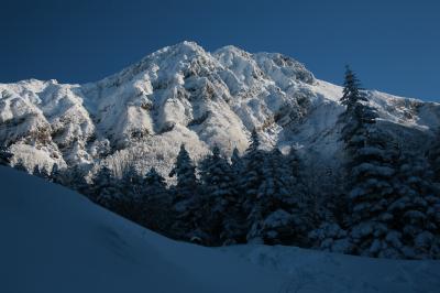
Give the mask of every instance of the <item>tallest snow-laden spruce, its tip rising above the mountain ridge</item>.
M 394 176 L 398 150 L 376 126 L 377 113 L 364 104 L 355 75 L 348 68 L 343 97 L 346 106 L 342 140 L 348 154 L 346 174 L 350 237 L 354 253 L 371 257 L 398 254 L 392 241 L 393 216 L 388 206 L 396 197 Z

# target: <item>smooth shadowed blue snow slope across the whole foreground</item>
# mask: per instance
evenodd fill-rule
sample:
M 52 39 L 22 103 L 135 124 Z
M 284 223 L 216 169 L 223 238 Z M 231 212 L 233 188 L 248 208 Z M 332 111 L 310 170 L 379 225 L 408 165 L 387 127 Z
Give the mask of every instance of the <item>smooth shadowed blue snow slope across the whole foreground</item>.
M 0 166 L 0 292 L 438 292 L 439 261 L 176 242 Z

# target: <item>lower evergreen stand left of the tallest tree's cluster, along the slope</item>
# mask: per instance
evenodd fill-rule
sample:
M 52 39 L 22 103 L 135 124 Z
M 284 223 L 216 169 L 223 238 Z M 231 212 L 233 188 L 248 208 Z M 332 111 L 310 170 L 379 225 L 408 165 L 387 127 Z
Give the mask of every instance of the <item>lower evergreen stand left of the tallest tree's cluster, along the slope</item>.
M 299 181 L 299 158 L 293 149 L 260 150 L 256 131 L 241 156 L 221 155 L 215 146 L 196 167 L 185 145 L 169 173 L 176 184 L 167 186 L 153 167 L 142 175 L 134 166 L 121 178 L 103 165 L 86 182 L 80 169 L 57 166 L 48 176 L 74 187 L 92 202 L 142 226 L 174 239 L 205 246 L 258 242 L 307 246 L 312 225 L 307 217 L 305 188 Z M 311 218 L 311 217 L 310 217 Z

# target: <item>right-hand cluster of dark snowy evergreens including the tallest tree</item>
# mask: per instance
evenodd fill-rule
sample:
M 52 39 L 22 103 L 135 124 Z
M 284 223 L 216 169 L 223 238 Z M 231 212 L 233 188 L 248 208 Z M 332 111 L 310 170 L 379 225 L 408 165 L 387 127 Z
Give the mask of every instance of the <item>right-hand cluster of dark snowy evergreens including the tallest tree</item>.
M 369 257 L 439 259 L 439 140 L 427 155 L 402 151 L 377 123 L 350 68 L 341 101 L 346 185 L 333 206 L 343 217 L 311 232 L 315 246 Z

